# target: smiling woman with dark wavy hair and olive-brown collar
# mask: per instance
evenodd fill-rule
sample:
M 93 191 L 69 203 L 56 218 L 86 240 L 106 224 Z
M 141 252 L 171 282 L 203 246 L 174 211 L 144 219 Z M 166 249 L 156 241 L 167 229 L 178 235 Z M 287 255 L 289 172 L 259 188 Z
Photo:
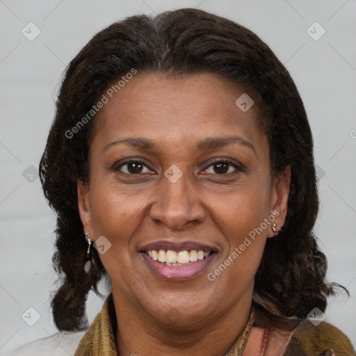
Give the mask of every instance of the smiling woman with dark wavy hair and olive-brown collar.
M 40 162 L 51 306 L 80 355 L 355 355 L 321 321 L 313 140 L 257 35 L 202 10 L 129 17 L 72 60 Z

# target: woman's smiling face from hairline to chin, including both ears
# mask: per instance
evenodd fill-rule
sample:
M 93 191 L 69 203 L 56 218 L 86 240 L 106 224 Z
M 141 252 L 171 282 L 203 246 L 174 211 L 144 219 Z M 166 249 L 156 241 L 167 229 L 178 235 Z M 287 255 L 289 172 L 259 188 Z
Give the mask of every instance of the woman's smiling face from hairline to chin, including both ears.
M 138 73 L 114 94 L 97 114 L 90 184 L 78 185 L 114 300 L 176 325 L 250 307 L 289 193 L 289 174 L 271 181 L 257 104 L 236 105 L 244 91 L 213 74 Z

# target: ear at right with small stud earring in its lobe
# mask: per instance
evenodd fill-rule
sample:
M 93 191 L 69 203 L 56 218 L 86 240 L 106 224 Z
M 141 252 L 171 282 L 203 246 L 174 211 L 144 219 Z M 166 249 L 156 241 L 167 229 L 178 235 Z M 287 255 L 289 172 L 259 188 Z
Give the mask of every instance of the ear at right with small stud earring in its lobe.
M 290 184 L 291 166 L 287 165 L 284 171 L 273 179 L 270 193 L 270 214 L 276 217 L 273 223 L 277 225 L 278 229 L 282 228 L 286 220 Z M 269 235 L 268 237 L 274 237 L 276 233 L 270 228 Z

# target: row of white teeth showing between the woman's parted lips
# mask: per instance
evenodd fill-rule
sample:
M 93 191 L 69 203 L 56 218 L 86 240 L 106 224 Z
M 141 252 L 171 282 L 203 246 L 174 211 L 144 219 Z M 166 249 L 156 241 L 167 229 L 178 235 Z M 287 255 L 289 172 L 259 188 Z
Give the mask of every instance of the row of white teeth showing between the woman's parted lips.
M 158 261 L 165 266 L 188 266 L 202 259 L 206 259 L 209 254 L 215 253 L 213 251 L 207 252 L 203 250 L 149 250 L 143 252 L 152 260 Z

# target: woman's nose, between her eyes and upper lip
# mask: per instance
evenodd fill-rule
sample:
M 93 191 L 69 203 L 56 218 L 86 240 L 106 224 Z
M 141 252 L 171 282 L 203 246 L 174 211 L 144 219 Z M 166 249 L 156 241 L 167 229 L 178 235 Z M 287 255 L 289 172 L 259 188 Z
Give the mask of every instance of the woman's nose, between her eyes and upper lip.
M 175 183 L 163 177 L 151 207 L 151 218 L 167 225 L 171 230 L 179 230 L 191 222 L 202 223 L 205 218 L 200 198 L 188 186 L 186 177 L 187 175 L 182 175 Z

